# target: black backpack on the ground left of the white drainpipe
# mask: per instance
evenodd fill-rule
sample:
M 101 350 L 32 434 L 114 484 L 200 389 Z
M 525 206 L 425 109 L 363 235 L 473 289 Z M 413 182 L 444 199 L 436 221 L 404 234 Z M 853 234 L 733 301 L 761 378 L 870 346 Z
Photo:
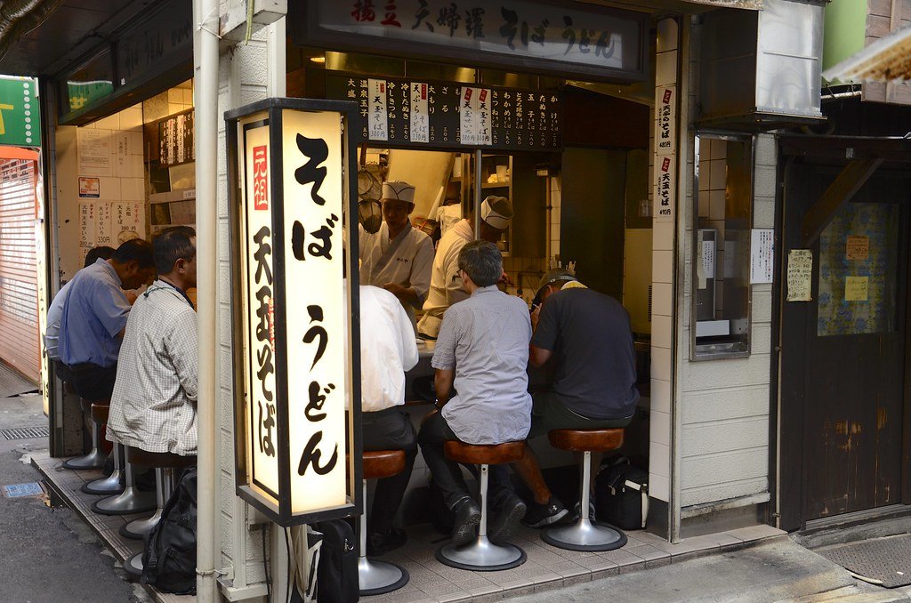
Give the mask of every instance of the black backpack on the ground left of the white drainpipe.
M 191 469 L 145 537 L 143 584 L 176 595 L 196 594 L 196 510 L 196 469 Z

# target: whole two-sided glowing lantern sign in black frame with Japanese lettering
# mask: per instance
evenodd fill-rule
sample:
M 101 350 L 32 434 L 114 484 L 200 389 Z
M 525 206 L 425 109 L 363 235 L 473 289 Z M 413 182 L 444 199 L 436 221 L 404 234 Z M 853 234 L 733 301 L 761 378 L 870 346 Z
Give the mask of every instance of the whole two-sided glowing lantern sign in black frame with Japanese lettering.
M 226 115 L 237 491 L 284 526 L 359 513 L 356 110 L 271 98 Z

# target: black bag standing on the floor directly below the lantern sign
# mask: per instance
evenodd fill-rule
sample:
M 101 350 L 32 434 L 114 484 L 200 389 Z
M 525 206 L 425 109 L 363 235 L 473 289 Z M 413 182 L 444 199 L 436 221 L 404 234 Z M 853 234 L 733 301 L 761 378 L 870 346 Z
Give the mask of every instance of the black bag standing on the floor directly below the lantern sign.
M 319 603 L 356 602 L 360 596 L 360 581 L 352 526 L 343 519 L 333 519 L 317 522 L 313 529 L 322 532 L 316 568 L 316 600 Z

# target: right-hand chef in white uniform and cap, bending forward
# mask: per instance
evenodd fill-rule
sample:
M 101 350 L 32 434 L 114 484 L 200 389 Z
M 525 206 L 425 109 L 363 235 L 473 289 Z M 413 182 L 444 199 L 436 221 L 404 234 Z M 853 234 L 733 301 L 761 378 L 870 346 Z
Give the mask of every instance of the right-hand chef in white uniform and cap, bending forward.
M 417 323 L 419 336 L 436 339 L 446 308 L 456 301 L 466 300 L 468 293 L 462 289 L 458 275 L 458 254 L 467 243 L 475 240 L 475 216 L 472 211 L 446 230 L 436 246 L 434 270 L 430 277 L 430 291 L 424 302 L 424 318 Z M 496 243 L 507 230 L 513 218 L 512 203 L 506 197 L 491 195 L 481 203 L 480 239 Z

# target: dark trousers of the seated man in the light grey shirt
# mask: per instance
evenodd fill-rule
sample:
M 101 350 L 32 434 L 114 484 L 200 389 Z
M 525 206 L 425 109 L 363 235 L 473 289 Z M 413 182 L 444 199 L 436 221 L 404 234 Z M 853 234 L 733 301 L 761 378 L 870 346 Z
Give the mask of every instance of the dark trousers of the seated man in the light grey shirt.
M 430 473 L 434 476 L 436 485 L 443 492 L 446 506 L 455 510 L 455 506 L 460 500 L 471 495 L 468 493 L 468 485 L 465 483 L 465 477 L 462 476 L 458 463 L 449 460 L 443 453 L 443 443 L 447 440 L 458 440 L 458 437 L 446 423 L 442 413 L 430 414 L 421 425 L 417 441 L 421 445 L 421 452 L 424 454 L 424 460 L 430 468 Z M 466 466 L 469 471 L 477 475 L 475 465 Z M 489 480 L 488 500 L 490 506 L 496 508 L 513 492 L 507 465 L 490 465 Z

